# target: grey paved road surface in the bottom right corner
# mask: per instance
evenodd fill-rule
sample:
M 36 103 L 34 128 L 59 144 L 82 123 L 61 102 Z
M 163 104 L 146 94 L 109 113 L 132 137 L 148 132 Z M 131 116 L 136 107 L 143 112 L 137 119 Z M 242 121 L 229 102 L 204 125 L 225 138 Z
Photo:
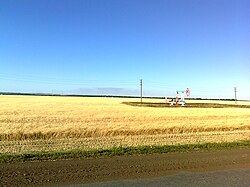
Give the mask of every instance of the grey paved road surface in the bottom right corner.
M 180 172 L 164 177 L 118 180 L 66 187 L 249 187 L 250 169 L 229 169 L 210 172 Z

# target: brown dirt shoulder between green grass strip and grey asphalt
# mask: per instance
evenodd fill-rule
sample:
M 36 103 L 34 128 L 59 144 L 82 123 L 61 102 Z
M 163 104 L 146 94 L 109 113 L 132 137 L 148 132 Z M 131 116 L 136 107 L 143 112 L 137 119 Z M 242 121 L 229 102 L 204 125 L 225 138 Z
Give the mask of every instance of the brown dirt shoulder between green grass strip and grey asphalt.
M 0 164 L 0 186 L 67 186 L 155 177 L 185 172 L 250 169 L 250 147 L 82 160 Z M 185 175 L 184 175 L 185 176 Z M 241 181 L 250 185 L 250 174 Z M 119 183 L 118 183 L 119 184 Z

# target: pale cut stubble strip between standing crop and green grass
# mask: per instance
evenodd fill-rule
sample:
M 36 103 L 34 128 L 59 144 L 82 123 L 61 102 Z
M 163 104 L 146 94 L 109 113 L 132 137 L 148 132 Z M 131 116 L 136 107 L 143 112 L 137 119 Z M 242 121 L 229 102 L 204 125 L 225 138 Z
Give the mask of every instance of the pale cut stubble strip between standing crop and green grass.
M 113 147 L 203 144 L 249 140 L 249 131 L 202 132 L 95 138 L 62 138 L 49 140 L 0 141 L 2 153 L 70 151 L 74 149 L 112 149 Z

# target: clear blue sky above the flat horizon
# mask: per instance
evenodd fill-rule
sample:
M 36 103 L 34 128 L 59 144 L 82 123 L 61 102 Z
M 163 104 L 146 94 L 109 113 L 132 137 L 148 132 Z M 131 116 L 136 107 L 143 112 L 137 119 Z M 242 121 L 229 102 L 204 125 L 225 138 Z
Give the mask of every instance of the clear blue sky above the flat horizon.
M 250 99 L 249 0 L 0 0 L 0 91 Z

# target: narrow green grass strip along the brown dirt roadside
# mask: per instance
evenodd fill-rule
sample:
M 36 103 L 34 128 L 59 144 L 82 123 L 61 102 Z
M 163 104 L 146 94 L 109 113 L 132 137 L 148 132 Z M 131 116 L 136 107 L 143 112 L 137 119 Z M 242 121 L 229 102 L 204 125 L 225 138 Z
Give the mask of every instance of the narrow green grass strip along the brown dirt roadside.
M 186 145 L 164 146 L 138 146 L 138 147 L 114 147 L 103 150 L 80 150 L 57 151 L 57 152 L 32 152 L 23 154 L 0 154 L 0 163 L 24 162 L 34 160 L 58 160 L 73 158 L 97 158 L 104 156 L 121 156 L 134 154 L 169 153 L 196 150 L 225 149 L 235 147 L 250 147 L 250 140 L 228 143 L 204 143 Z

